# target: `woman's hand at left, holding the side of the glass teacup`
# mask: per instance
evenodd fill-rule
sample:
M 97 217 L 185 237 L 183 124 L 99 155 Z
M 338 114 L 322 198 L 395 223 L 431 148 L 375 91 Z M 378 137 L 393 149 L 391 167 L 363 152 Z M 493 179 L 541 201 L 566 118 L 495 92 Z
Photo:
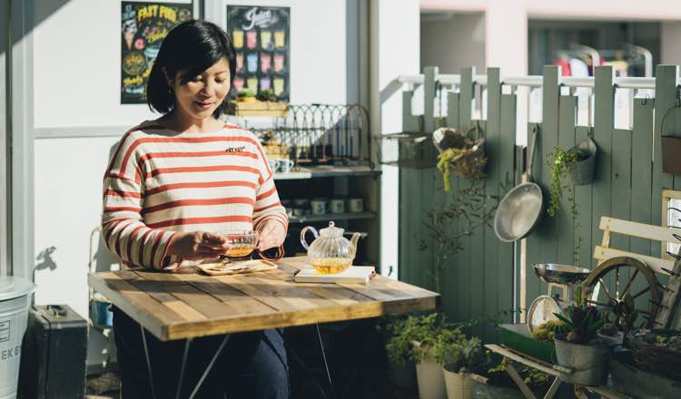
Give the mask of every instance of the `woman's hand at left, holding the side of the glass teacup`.
M 217 259 L 227 249 L 227 239 L 207 231 L 177 233 L 170 242 L 166 255 L 183 259 Z

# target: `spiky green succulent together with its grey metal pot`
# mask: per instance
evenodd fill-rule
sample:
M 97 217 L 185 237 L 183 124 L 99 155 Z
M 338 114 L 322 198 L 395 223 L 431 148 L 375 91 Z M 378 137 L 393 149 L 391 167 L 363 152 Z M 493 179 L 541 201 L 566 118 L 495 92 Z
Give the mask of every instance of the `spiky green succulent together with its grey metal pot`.
M 570 384 L 600 385 L 607 380 L 609 350 L 597 337 L 604 319 L 597 307 L 587 305 L 577 287 L 575 304 L 570 305 L 563 316 L 555 313 L 568 326 L 568 333 L 553 338 L 558 365 L 571 370 L 561 372 L 561 378 Z

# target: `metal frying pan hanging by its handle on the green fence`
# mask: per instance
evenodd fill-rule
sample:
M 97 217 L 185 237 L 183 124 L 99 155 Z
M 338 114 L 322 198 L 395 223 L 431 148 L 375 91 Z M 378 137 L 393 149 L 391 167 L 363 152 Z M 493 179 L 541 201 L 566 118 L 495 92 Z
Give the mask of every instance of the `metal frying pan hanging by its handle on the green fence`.
M 544 209 L 541 188 L 532 182 L 532 163 L 537 142 L 537 126 L 532 129 L 528 147 L 528 181 L 518 184 L 501 199 L 494 215 L 494 232 L 504 242 L 525 238 L 535 229 Z

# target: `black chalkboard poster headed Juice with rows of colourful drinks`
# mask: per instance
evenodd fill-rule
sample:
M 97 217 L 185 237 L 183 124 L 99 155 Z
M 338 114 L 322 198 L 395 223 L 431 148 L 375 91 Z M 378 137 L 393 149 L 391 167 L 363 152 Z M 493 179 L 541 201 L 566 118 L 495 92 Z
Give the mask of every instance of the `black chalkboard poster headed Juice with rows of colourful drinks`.
M 236 50 L 232 95 L 249 89 L 271 90 L 279 101 L 289 101 L 291 9 L 227 5 L 227 33 Z

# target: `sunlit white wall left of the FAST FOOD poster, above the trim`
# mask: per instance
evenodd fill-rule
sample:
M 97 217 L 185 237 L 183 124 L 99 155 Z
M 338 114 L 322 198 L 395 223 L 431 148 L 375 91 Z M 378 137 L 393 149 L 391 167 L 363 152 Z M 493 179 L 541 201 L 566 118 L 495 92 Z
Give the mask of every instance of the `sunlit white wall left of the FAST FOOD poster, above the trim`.
M 153 118 L 145 104 L 120 103 L 120 32 L 121 2 L 112 0 L 71 0 L 35 27 L 35 128 L 132 126 Z

